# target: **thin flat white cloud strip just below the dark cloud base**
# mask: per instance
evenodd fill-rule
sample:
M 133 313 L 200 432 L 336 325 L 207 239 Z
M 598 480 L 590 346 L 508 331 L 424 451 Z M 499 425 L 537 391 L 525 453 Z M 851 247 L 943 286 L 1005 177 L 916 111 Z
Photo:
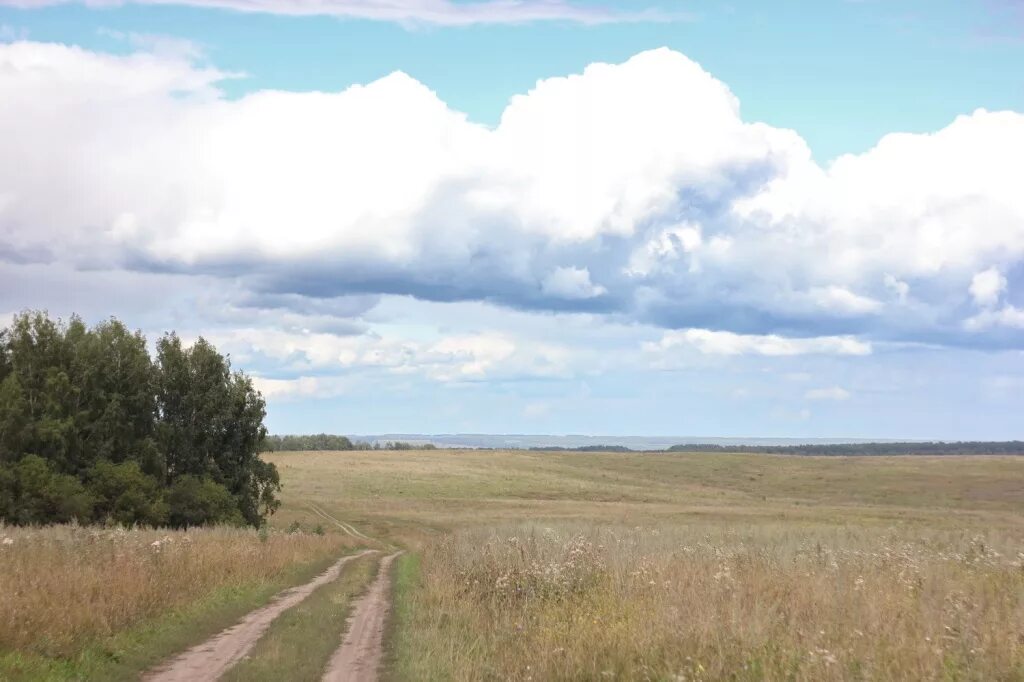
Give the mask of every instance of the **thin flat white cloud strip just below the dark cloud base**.
M 690 347 L 709 355 L 868 355 L 871 345 L 849 336 L 786 338 L 775 334 L 733 334 L 707 329 L 666 332 L 648 350 Z

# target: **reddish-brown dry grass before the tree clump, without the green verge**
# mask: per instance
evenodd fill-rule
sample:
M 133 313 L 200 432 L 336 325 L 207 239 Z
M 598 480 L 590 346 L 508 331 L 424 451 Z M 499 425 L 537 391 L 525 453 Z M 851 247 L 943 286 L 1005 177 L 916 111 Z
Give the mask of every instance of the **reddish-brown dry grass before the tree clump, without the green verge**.
M 337 557 L 335 535 L 0 526 L 0 651 L 68 657 L 216 589 Z

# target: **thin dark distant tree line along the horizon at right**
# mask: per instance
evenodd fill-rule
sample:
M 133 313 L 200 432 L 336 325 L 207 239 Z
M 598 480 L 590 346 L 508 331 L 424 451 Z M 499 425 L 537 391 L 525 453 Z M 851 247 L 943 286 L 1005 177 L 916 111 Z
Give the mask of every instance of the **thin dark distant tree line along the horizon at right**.
M 673 453 L 764 455 L 1024 455 L 1024 441 L 845 442 L 822 445 L 673 445 Z

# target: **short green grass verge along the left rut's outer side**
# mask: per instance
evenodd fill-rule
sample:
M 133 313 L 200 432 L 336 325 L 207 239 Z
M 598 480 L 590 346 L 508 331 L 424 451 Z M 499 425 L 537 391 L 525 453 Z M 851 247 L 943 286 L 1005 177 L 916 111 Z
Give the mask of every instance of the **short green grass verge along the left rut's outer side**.
M 137 679 L 160 660 L 232 626 L 281 590 L 312 580 L 337 560 L 337 556 L 326 557 L 289 568 L 270 581 L 217 588 L 186 606 L 97 640 L 72 657 L 0 652 L 0 680 Z

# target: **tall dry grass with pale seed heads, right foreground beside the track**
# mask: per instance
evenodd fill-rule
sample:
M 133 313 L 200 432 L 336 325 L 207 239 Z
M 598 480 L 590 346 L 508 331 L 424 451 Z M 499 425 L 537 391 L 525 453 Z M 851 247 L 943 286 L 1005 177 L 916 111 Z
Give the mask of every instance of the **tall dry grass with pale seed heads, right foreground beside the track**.
M 1024 679 L 1024 545 L 717 524 L 464 530 L 403 590 L 394 673 L 456 680 Z

